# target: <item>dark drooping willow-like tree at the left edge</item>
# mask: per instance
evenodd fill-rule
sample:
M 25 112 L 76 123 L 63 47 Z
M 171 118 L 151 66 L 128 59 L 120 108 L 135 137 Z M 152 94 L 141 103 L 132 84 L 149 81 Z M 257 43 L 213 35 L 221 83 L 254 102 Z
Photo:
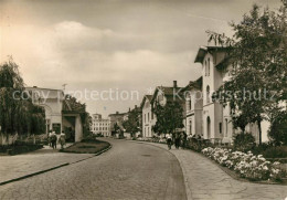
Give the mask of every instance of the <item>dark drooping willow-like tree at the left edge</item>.
M 19 66 L 10 57 L 0 65 L 0 126 L 3 134 L 43 134 L 45 113 L 24 93 Z

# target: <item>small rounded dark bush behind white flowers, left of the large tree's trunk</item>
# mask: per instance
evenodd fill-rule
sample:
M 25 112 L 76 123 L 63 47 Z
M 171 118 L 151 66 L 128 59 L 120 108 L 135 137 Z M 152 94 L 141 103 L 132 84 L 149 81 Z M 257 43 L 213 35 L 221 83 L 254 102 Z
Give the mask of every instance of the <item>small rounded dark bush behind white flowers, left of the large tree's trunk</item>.
M 241 133 L 234 136 L 234 149 L 247 152 L 255 147 L 255 138 L 249 133 Z

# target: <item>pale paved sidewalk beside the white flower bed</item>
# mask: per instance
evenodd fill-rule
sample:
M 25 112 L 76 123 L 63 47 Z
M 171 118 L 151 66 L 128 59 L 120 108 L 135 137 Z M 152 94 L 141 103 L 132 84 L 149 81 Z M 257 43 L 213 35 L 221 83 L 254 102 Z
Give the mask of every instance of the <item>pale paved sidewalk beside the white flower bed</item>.
M 167 149 L 167 145 L 142 143 Z M 182 168 L 188 199 L 281 199 L 287 186 L 259 185 L 233 179 L 210 159 L 192 150 L 170 150 Z

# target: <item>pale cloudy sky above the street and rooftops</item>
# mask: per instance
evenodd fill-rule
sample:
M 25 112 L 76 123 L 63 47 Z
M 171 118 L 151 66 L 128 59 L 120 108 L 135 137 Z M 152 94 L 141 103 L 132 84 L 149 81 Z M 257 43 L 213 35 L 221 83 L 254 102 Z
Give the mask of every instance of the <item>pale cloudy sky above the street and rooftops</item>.
M 205 31 L 232 35 L 254 3 L 280 1 L 0 0 L 0 62 L 12 55 L 28 86 L 65 88 L 91 114 L 127 112 L 156 86 L 199 78 Z

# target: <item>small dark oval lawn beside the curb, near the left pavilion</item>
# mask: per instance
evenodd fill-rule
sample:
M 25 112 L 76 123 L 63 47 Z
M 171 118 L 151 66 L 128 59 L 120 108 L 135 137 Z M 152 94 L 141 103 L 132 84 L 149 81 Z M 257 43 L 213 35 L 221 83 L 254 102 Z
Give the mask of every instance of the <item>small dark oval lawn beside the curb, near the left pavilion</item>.
M 84 140 L 75 143 L 74 145 L 61 150 L 62 152 L 76 152 L 76 154 L 96 154 L 110 146 L 107 141 L 100 140 Z

